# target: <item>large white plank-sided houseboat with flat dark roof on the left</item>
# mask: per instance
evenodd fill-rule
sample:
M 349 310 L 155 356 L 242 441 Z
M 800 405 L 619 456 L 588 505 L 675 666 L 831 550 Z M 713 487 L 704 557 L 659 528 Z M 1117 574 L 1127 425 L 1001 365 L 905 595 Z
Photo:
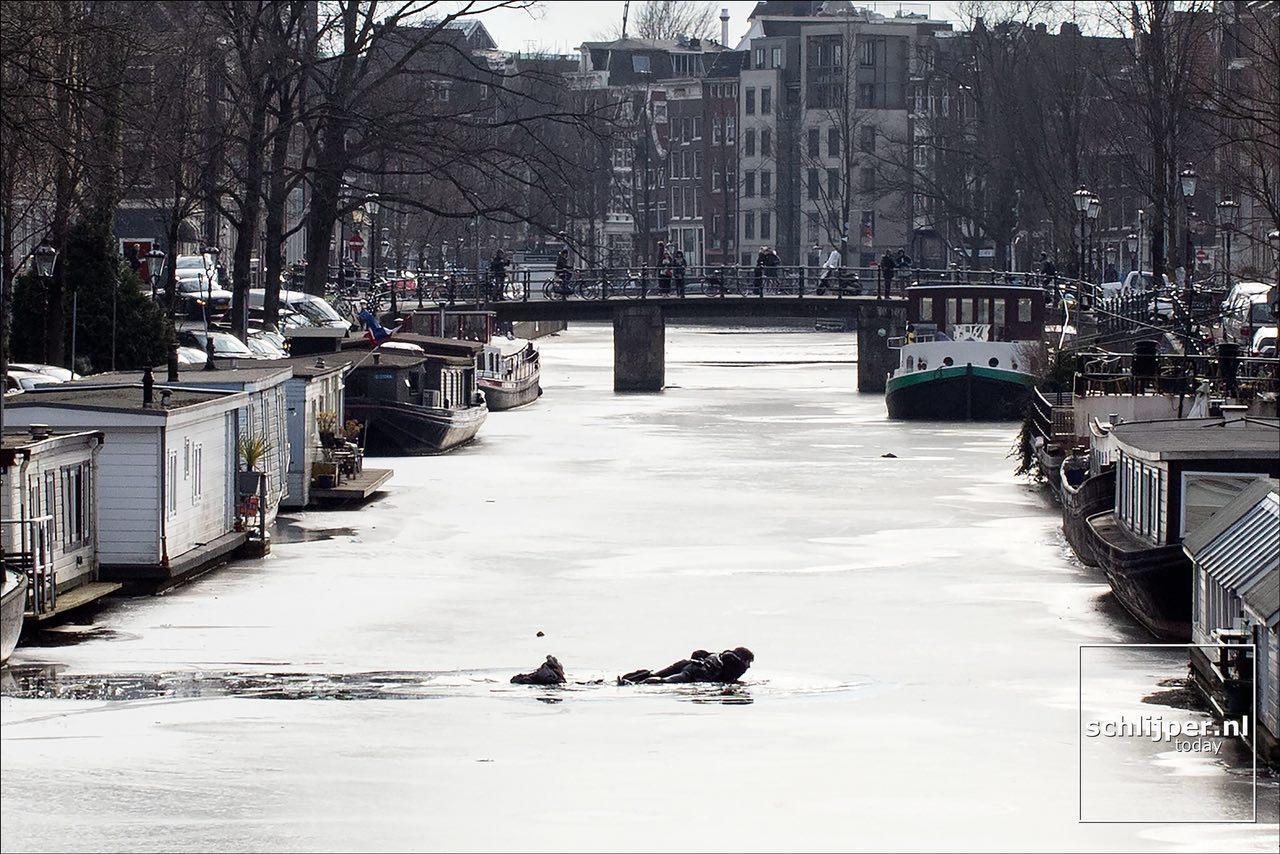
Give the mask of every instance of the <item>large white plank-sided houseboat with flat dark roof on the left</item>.
M 238 513 L 243 392 L 64 383 L 5 405 L 6 425 L 97 430 L 99 577 L 170 586 L 248 539 Z

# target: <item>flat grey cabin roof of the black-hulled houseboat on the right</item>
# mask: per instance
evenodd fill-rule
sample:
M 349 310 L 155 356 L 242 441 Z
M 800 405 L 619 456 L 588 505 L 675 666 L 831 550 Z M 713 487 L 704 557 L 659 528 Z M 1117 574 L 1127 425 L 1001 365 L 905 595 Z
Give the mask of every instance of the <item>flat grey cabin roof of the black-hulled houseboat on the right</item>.
M 1120 449 L 1143 460 L 1254 460 L 1275 457 L 1275 419 L 1129 421 L 1111 428 Z

